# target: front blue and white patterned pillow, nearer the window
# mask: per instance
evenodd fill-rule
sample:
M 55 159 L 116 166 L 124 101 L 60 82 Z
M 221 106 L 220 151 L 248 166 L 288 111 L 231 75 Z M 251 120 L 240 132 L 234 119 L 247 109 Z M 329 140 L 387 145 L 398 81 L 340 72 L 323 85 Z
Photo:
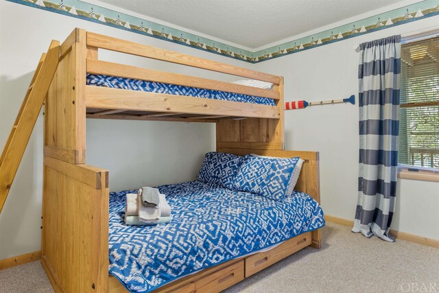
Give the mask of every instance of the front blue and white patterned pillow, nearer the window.
M 281 200 L 287 193 L 298 161 L 299 157 L 272 159 L 248 154 L 233 180 L 233 187 L 272 200 Z

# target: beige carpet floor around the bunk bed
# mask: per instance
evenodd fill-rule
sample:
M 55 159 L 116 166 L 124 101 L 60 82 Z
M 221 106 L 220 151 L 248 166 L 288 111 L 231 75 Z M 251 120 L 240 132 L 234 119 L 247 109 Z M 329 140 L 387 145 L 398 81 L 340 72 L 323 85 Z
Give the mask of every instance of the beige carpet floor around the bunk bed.
M 323 248 L 305 248 L 241 283 L 232 292 L 439 292 L 439 250 L 412 242 L 384 242 L 327 224 Z M 402 286 L 402 287 L 401 287 Z M 410 289 L 410 291 L 409 291 Z M 53 292 L 39 261 L 0 270 L 0 292 Z M 420 291 L 418 291 L 420 292 Z M 430 292 L 425 289 L 421 292 Z

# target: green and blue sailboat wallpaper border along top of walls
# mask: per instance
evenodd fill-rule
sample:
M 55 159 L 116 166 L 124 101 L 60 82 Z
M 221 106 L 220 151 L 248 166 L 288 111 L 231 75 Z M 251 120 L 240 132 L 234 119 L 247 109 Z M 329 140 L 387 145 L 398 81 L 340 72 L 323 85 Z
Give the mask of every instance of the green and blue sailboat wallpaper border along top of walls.
M 334 27 L 331 30 L 253 52 L 80 0 L 7 1 L 84 19 L 86 21 L 93 21 L 94 23 L 102 25 L 117 27 L 121 30 L 128 30 L 137 34 L 160 38 L 179 45 L 209 51 L 209 53 L 219 54 L 250 63 L 257 63 L 298 53 L 340 40 L 346 40 L 347 38 L 353 38 L 362 34 L 376 32 L 377 30 L 384 30 L 388 27 L 439 15 L 439 0 L 424 0 L 376 16 L 371 16 L 367 19 L 361 19 L 346 25 Z

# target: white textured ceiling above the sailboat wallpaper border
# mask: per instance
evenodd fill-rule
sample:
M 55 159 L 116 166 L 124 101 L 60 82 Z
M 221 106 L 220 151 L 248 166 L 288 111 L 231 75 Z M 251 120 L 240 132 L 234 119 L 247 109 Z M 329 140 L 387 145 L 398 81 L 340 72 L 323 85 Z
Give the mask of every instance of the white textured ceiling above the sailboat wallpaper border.
M 401 0 L 101 0 L 258 48 Z

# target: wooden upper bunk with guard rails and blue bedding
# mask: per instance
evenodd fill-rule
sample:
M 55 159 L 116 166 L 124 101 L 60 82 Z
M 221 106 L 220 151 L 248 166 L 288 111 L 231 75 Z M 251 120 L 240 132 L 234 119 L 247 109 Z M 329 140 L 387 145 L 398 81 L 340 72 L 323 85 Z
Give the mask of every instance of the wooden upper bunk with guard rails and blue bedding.
M 108 62 L 99 60 L 101 49 L 269 82 L 273 86 L 261 89 Z M 70 34 L 60 50 L 58 71 L 67 65 L 71 72 L 69 63 L 76 62 L 73 71 L 78 82 L 84 84 L 80 88 L 87 118 L 217 122 L 281 117 L 283 86 L 282 78 L 276 75 L 80 29 Z M 75 58 L 71 58 L 71 52 Z

